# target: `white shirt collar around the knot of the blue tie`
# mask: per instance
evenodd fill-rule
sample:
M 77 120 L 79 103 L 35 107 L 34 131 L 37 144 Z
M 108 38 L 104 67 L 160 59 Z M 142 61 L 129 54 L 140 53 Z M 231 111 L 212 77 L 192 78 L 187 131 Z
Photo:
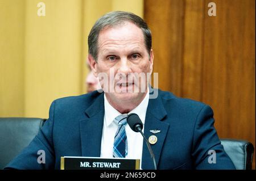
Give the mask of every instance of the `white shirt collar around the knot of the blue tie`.
M 137 115 L 141 118 L 142 123 L 144 124 L 145 122 L 145 117 L 146 117 L 146 111 L 147 111 L 147 106 L 148 106 L 148 100 L 149 100 L 149 90 L 147 89 L 147 94 L 142 100 L 141 103 L 137 107 L 135 107 L 133 110 L 131 110 L 128 114 L 130 113 L 137 113 Z M 117 110 L 115 110 L 114 107 L 112 107 L 108 99 L 106 99 L 106 95 L 104 93 L 104 108 L 105 108 L 105 120 L 106 120 L 106 126 L 108 127 L 112 122 L 114 121 L 115 117 L 118 115 L 121 115 L 121 113 Z

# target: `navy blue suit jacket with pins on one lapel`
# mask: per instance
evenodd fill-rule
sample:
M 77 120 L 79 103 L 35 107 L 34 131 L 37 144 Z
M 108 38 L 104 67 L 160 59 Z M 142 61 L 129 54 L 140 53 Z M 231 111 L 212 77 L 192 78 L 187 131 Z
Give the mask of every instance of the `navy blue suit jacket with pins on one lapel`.
M 100 157 L 103 120 L 103 93 L 57 99 L 38 135 L 6 168 L 60 169 L 61 156 Z M 235 169 L 213 123 L 209 106 L 159 90 L 148 102 L 144 125 L 147 138 L 160 130 L 151 145 L 158 169 Z M 46 152 L 46 163 L 37 162 L 38 150 Z M 216 163 L 208 162 L 209 150 L 216 151 Z M 154 169 L 145 142 L 142 169 Z

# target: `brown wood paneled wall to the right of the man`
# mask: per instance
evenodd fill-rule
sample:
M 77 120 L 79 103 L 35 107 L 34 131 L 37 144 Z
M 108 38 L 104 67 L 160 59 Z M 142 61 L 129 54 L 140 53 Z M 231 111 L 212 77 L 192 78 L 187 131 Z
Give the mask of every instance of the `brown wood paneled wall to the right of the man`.
M 160 89 L 209 104 L 220 138 L 255 146 L 255 1 L 147 0 L 144 19 Z

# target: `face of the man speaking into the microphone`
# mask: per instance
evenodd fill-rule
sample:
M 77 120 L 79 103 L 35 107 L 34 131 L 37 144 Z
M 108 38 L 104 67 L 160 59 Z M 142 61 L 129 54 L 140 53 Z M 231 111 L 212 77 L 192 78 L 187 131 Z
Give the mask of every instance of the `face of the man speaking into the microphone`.
M 101 82 L 107 98 L 113 102 L 138 102 L 144 98 L 143 87 L 148 85 L 147 73 L 152 73 L 153 52 L 148 54 L 141 28 L 126 22 L 102 30 L 98 37 L 97 61 L 91 64 L 94 74 L 108 74 L 109 86 L 114 87 L 111 92 L 110 87 Z M 134 73 L 142 73 L 146 78 L 131 77 Z

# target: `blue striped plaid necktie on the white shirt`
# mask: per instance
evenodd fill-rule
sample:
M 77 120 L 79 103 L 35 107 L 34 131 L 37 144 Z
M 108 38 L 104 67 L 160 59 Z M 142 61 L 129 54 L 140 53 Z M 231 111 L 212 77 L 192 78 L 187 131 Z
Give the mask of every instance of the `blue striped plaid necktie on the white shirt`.
M 119 115 L 115 117 L 114 121 L 118 125 L 117 132 L 114 138 L 113 157 L 125 158 L 128 153 L 127 136 L 125 132 L 125 124 L 127 114 Z

